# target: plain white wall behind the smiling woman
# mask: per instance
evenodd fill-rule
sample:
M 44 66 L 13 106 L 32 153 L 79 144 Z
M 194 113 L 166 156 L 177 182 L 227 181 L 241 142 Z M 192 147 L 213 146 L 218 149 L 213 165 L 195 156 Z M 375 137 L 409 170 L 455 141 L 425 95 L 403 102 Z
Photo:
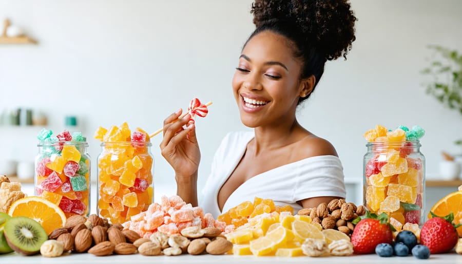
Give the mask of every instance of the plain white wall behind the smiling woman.
M 459 154 L 462 118 L 425 93 L 419 70 L 428 44 L 462 51 L 458 0 L 353 0 L 357 40 L 347 61 L 326 64 L 311 100 L 299 109 L 307 129 L 330 140 L 348 178 L 362 175 L 362 134 L 375 124 L 420 125 L 427 175 L 438 173 L 440 151 Z M 65 115 L 78 116 L 95 161 L 98 126 L 127 121 L 148 131 L 197 97 L 213 101 L 198 119 L 205 182 L 221 138 L 242 130 L 230 87 L 242 44 L 252 32 L 251 0 L 59 1 L 0 0 L 0 18 L 24 27 L 38 45 L 0 46 L 0 110 L 46 112 L 59 131 Z M 0 127 L 0 158 L 33 159 L 40 127 Z M 155 180 L 174 175 L 152 140 Z M 14 142 L 13 142 L 14 141 Z M 93 175 L 96 177 L 96 166 Z

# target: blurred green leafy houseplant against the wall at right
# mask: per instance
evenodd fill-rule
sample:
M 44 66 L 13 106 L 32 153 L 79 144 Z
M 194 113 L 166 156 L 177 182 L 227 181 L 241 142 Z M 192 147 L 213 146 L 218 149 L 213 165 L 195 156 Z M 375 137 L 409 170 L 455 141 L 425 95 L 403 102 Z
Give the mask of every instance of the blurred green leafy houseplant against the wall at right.
M 462 115 L 462 54 L 437 45 L 428 48 L 435 54 L 429 59 L 430 65 L 421 71 L 431 78 L 425 84 L 427 93 Z M 455 144 L 462 145 L 462 139 Z

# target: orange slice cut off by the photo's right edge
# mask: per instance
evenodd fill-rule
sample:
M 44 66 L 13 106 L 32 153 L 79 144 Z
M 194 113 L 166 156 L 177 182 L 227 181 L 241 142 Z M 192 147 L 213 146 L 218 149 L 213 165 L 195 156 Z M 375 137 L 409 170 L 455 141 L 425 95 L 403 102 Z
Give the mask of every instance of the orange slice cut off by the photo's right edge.
M 448 194 L 446 197 L 436 202 L 430 211 L 437 216 L 447 216 L 452 212 L 454 214 L 453 223 L 462 223 L 462 192 L 459 191 Z M 429 213 L 428 219 L 430 218 L 432 218 L 432 216 Z M 457 228 L 457 233 L 459 237 L 462 236 L 462 226 Z

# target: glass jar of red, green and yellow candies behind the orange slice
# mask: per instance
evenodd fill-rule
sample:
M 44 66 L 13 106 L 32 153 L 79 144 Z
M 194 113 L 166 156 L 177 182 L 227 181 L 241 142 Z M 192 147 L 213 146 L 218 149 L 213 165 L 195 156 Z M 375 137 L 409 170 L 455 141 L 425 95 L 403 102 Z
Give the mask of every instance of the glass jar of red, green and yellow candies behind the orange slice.
M 35 156 L 34 194 L 64 214 L 90 213 L 90 156 L 84 141 L 42 141 Z

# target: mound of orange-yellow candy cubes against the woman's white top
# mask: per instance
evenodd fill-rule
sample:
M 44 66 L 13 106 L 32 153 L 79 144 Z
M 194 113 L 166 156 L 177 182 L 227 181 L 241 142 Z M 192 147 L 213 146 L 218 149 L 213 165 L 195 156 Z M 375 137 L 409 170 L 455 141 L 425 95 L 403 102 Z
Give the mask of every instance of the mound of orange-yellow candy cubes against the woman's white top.
M 234 225 L 235 228 L 238 228 L 247 223 L 249 218 L 273 212 L 290 212 L 293 214 L 294 208 L 290 205 L 274 205 L 272 199 L 255 197 L 254 202 L 244 201 L 229 209 L 228 212 L 218 216 L 217 219 L 225 222 L 227 225 Z

